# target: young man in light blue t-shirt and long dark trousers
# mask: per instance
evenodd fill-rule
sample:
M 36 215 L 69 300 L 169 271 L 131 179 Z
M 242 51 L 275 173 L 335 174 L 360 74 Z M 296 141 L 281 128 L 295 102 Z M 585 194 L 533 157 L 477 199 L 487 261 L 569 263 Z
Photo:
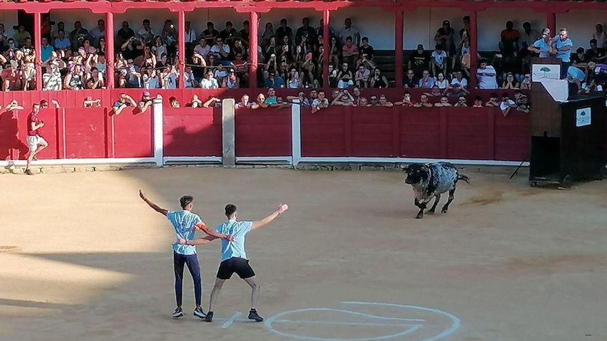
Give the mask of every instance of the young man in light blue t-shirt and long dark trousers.
M 198 214 L 192 213 L 192 201 L 194 198 L 192 196 L 182 196 L 179 198 L 179 204 L 181 205 L 181 210 L 179 211 L 168 211 L 152 203 L 151 200 L 148 199 L 146 194 L 141 192 L 139 189 L 139 196 L 143 201 L 146 202 L 152 209 L 157 211 L 159 214 L 166 216 L 170 221 L 171 225 L 175 229 L 175 235 L 180 240 L 192 240 L 194 239 L 194 234 L 196 230 L 203 231 L 204 233 L 212 236 L 213 240 L 215 238 L 221 238 L 223 240 L 234 240 L 231 236 L 227 236 L 226 234 L 220 234 L 212 229 L 206 227 L 205 223 L 198 216 Z M 210 242 L 210 240 L 205 240 L 204 242 Z M 204 242 L 198 242 L 198 244 L 203 244 Z M 192 279 L 194 280 L 194 294 L 196 300 L 196 309 L 194 310 L 194 315 L 199 318 L 206 318 L 206 314 L 202 310 L 201 303 L 201 295 L 202 295 L 202 285 L 200 280 L 200 265 L 198 264 L 198 256 L 196 254 L 196 247 L 190 245 L 182 245 L 175 242 L 172 245 L 173 249 L 173 266 L 175 267 L 175 297 L 177 299 L 177 309 L 172 314 L 173 318 L 181 318 L 183 316 L 183 309 L 181 309 L 181 291 L 183 287 L 183 267 L 184 265 L 188 265 L 188 270 L 190 270 L 190 275 L 192 275 Z

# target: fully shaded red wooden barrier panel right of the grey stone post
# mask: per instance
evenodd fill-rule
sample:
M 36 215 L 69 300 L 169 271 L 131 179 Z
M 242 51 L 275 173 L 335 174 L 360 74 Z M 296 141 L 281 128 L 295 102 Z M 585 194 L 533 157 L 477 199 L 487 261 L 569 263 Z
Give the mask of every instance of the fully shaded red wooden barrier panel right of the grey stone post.
M 291 108 L 236 110 L 236 156 L 290 156 Z

